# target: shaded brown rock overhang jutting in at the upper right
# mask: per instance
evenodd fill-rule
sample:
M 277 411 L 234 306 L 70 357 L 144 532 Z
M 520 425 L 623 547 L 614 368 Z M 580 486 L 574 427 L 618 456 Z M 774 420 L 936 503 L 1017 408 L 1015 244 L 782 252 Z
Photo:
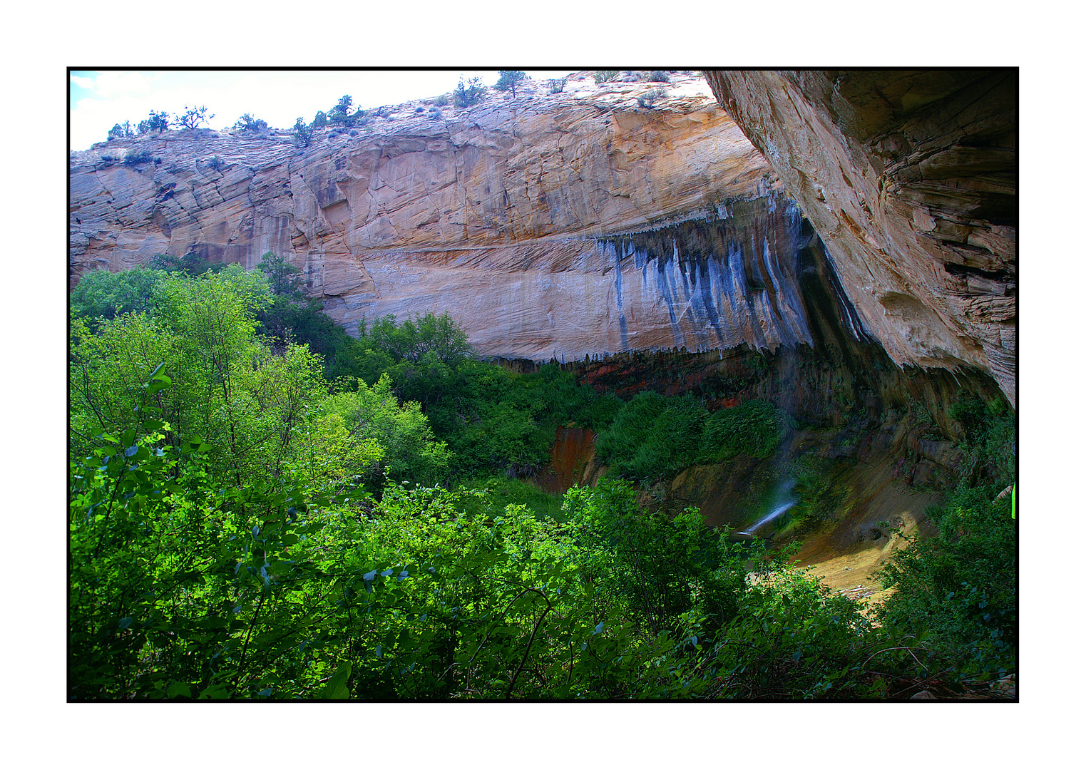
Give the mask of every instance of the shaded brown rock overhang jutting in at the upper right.
M 706 73 L 899 364 L 1015 401 L 1018 73 Z

